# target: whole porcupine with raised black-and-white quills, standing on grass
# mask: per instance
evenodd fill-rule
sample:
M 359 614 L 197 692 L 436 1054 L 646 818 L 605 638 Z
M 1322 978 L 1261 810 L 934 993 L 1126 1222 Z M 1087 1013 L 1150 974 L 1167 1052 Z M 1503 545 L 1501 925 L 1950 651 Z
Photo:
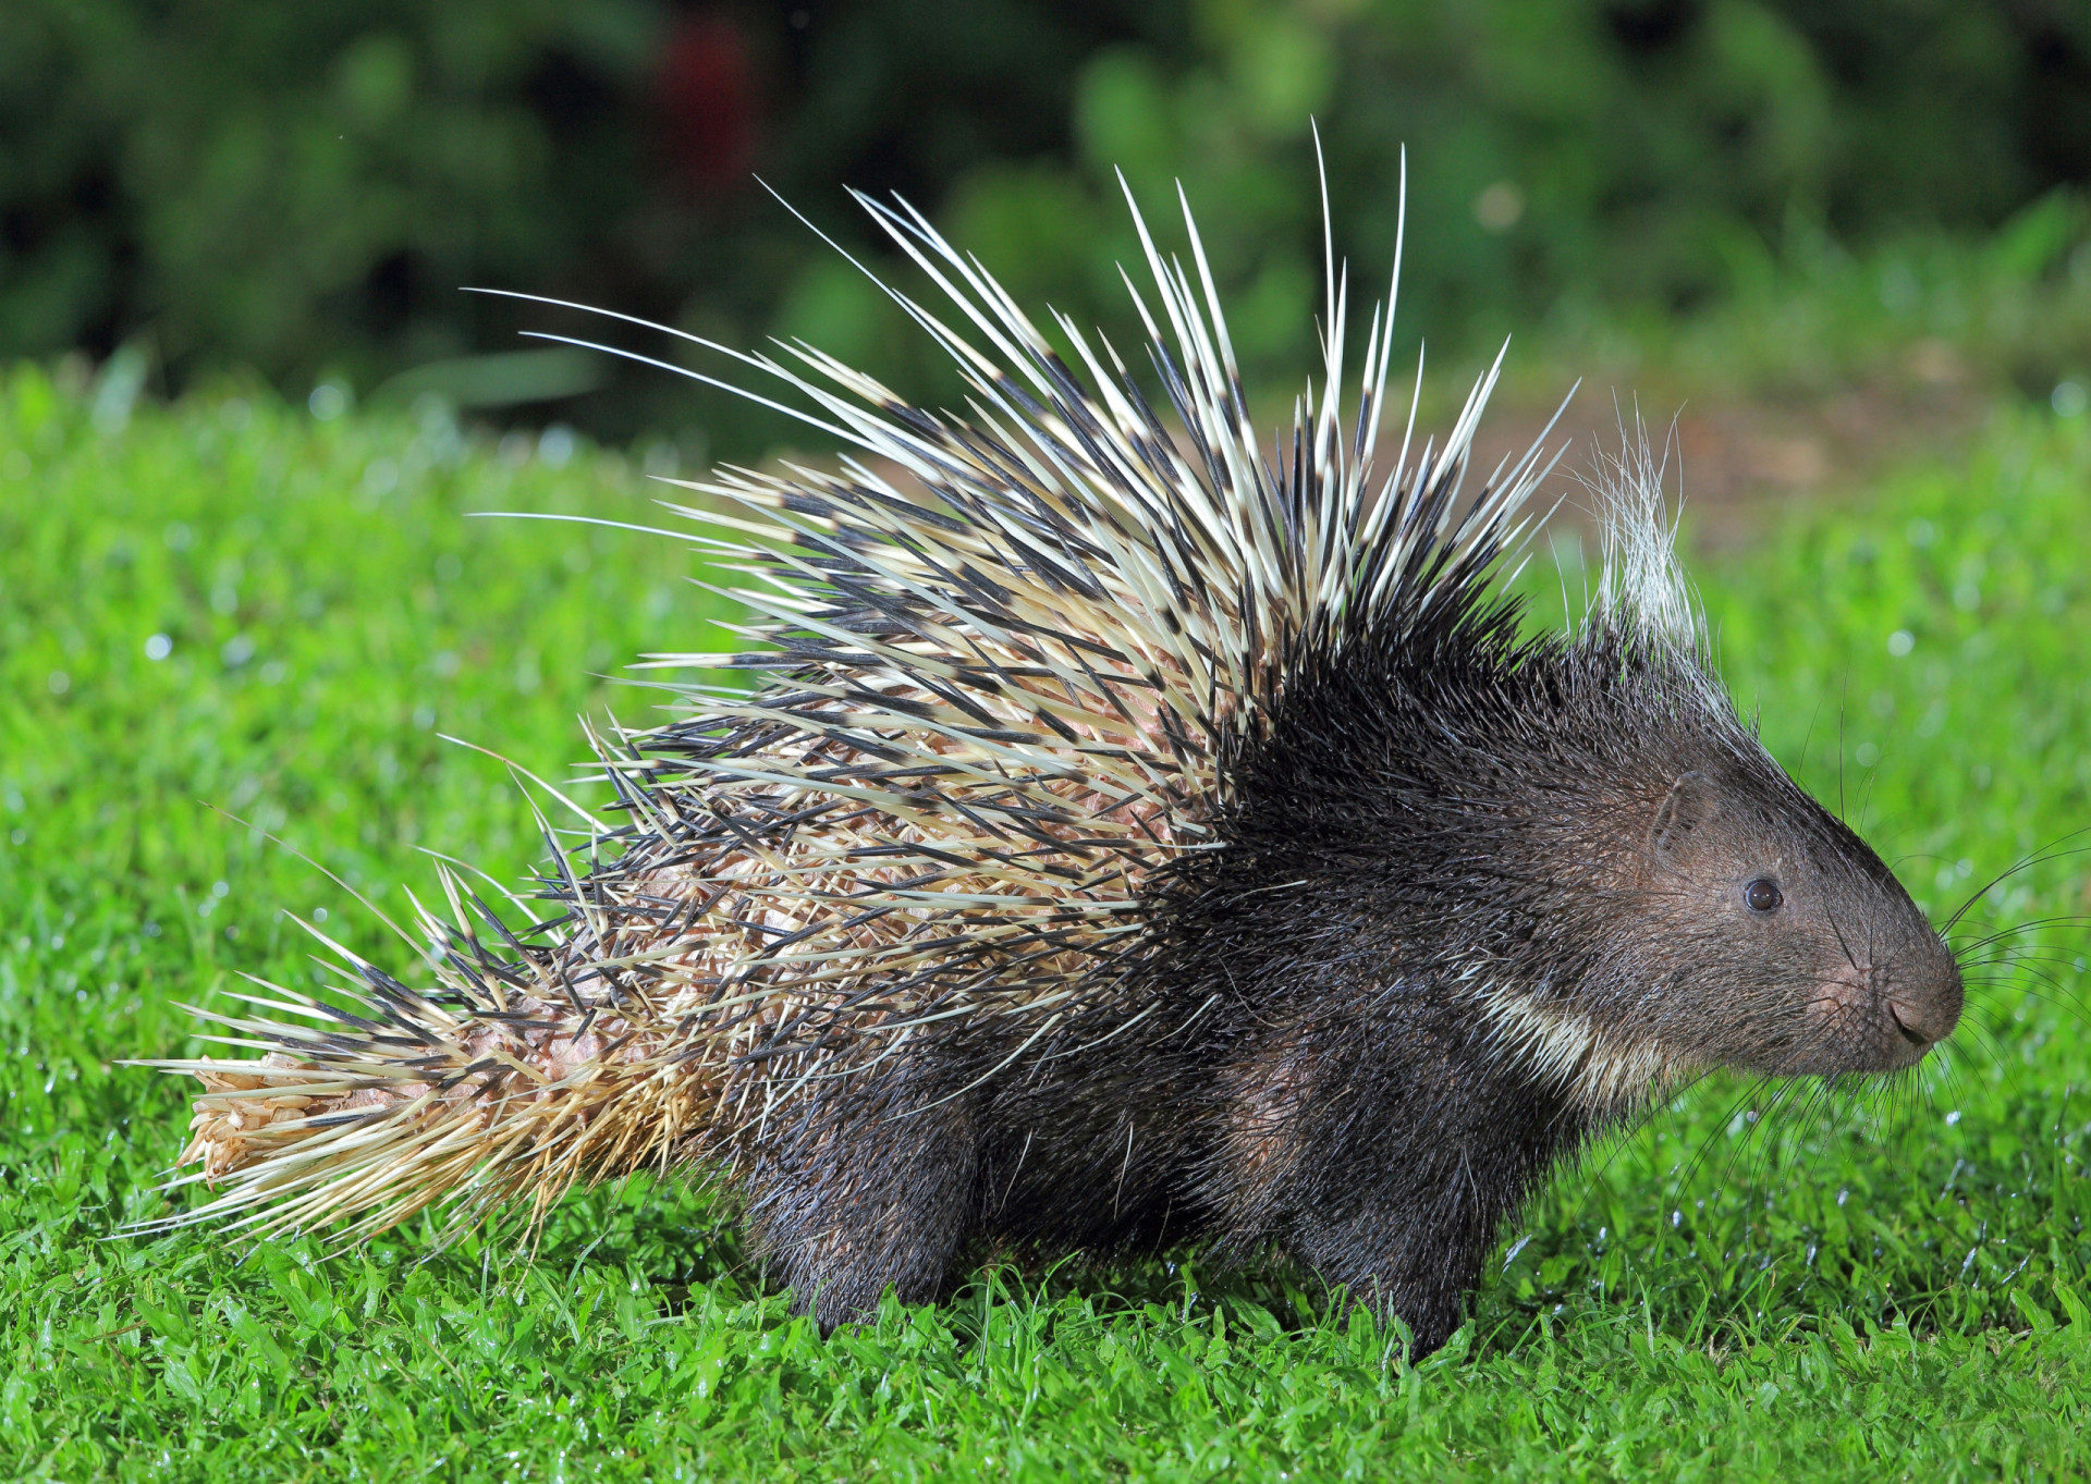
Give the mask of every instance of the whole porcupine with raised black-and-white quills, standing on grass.
M 445 872 L 435 987 L 339 949 L 351 1010 L 263 987 L 222 1018 L 261 1060 L 163 1062 L 205 1083 L 182 1181 L 224 1187 L 174 1221 L 364 1235 L 690 1168 L 824 1329 L 989 1248 L 1204 1242 L 1428 1350 L 1535 1183 L 1679 1079 L 1953 1028 L 1940 936 L 1715 677 L 1646 445 L 1564 633 L 1501 581 L 1545 439 L 1462 493 L 1501 355 L 1374 472 L 1399 242 L 1355 418 L 1330 253 L 1322 385 L 1265 454 L 1188 201 L 1192 268 L 1133 205 L 1152 303 L 1125 278 L 1181 437 L 1106 339 L 1054 316 L 1069 362 L 857 201 L 970 324 L 895 293 L 964 416 L 703 343 L 853 449 L 671 506 L 763 621 L 652 663 L 765 683 L 596 738 L 623 817 L 554 847 L 550 922 Z

